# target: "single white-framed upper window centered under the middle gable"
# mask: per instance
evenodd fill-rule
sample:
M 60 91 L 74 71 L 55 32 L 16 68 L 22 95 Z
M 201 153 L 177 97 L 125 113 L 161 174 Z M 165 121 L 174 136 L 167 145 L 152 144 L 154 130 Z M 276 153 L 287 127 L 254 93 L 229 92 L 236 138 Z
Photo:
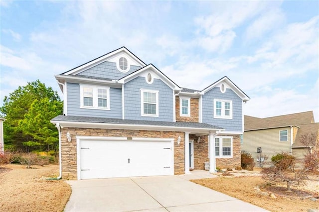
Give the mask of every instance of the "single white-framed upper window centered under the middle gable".
M 141 114 L 143 116 L 159 116 L 159 92 L 141 90 Z

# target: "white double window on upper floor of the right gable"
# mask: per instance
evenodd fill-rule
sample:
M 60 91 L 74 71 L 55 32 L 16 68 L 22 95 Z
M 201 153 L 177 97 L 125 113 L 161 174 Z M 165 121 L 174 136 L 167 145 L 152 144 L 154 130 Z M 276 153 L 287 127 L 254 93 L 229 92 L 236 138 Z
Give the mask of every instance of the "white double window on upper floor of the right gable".
M 233 118 L 233 102 L 230 100 L 214 100 L 214 118 Z

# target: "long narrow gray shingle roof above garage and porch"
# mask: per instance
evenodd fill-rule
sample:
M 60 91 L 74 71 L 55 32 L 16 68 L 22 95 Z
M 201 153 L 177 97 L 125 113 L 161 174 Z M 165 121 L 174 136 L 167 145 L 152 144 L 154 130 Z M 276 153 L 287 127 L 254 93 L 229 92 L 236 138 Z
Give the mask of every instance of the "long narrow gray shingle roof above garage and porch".
M 74 122 L 92 122 L 92 123 L 114 123 L 114 124 L 134 124 L 134 125 L 154 125 L 154 126 L 174 126 L 174 127 L 191 127 L 206 129 L 223 129 L 222 127 L 198 122 L 169 122 L 169 121 L 145 121 L 145 120 L 128 120 L 118 118 L 101 118 L 86 117 L 75 115 L 58 115 L 52 118 L 53 121 L 74 121 Z

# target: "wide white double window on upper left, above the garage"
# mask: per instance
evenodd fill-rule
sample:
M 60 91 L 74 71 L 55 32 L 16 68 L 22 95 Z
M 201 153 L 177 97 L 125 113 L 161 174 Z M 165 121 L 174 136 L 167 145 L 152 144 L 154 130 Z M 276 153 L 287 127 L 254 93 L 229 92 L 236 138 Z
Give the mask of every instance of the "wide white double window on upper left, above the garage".
M 81 108 L 110 109 L 110 88 L 80 85 Z

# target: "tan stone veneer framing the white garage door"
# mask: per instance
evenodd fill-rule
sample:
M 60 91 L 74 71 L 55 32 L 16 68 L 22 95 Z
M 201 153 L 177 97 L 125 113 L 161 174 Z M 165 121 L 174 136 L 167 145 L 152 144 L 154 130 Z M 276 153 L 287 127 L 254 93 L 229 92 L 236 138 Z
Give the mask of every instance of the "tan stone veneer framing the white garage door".
M 67 131 L 71 134 L 71 142 L 68 142 L 66 139 Z M 184 132 L 64 127 L 61 129 L 63 179 L 77 180 L 77 150 L 75 136 L 174 138 L 174 174 L 184 174 Z M 176 142 L 178 136 L 181 137 L 180 144 L 177 144 Z

